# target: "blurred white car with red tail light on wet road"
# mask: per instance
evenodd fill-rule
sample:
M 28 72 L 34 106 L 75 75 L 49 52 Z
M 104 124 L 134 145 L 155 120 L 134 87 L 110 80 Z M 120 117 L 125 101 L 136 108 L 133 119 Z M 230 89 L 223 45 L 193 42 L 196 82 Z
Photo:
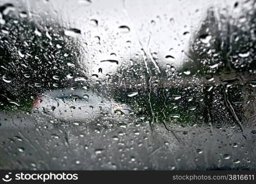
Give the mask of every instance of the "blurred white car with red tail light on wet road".
M 33 102 L 33 110 L 52 115 L 59 120 L 93 120 L 99 115 L 128 115 L 130 107 L 83 89 L 45 91 Z

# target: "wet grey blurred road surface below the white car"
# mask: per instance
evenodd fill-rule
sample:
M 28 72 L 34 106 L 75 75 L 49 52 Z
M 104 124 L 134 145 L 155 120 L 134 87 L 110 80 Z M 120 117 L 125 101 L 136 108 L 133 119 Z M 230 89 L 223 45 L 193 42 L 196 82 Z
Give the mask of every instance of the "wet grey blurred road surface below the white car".
M 131 120 L 133 119 L 133 120 Z M 256 169 L 252 127 L 140 125 L 129 117 L 59 122 L 0 114 L 0 169 Z M 255 125 L 254 125 L 255 129 Z

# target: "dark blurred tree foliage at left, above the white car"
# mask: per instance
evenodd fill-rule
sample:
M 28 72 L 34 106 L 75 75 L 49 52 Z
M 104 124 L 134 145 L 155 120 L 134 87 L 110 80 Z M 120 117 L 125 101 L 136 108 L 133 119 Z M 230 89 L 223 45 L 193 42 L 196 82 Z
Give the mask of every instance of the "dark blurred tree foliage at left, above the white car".
M 1 13 L 8 6 L 2 6 Z M 79 57 L 77 41 L 65 36 L 64 28 L 56 23 L 34 23 L 29 17 L 18 17 L 15 11 L 2 16 L 0 108 L 13 108 L 10 101 L 20 104 L 14 108 L 26 108 L 42 91 L 70 85 L 66 75 L 78 74 L 78 67 L 68 66 L 76 64 Z

